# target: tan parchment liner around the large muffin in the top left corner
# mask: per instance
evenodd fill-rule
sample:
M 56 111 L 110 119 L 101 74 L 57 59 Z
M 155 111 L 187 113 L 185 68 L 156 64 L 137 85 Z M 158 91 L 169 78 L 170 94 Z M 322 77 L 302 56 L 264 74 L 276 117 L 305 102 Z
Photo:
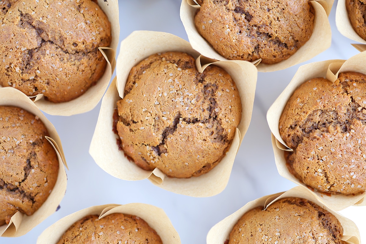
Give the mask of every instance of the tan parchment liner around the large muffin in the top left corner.
M 116 50 L 119 40 L 119 10 L 117 0 L 98 0 L 99 7 L 108 16 L 111 22 L 112 42 L 109 47 L 98 48 L 107 60 L 104 75 L 91 86 L 83 95 L 69 102 L 53 103 L 45 100 L 43 94 L 30 96 L 34 103 L 45 113 L 50 115 L 70 116 L 85 113 L 97 106 L 103 97 L 105 90 L 111 80 L 112 73 L 116 66 Z M 0 86 L 1 88 L 1 86 Z

